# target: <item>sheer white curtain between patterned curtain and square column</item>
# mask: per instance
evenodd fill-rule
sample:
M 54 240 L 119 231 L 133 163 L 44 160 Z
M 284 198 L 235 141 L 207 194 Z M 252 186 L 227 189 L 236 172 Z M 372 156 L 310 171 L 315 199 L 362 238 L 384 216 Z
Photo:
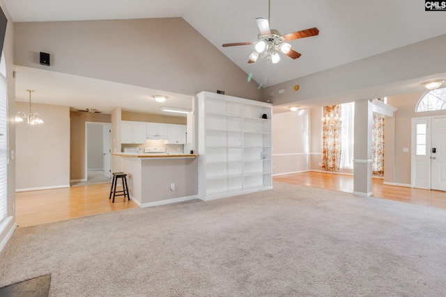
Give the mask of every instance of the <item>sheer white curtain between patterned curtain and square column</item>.
M 341 168 L 353 168 L 355 102 L 341 104 Z

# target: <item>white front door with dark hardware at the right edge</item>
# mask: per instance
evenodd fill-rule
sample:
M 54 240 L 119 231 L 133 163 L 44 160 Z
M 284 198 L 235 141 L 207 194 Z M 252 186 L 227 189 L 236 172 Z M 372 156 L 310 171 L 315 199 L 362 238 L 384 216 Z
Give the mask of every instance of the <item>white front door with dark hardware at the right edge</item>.
M 433 118 L 431 131 L 431 188 L 446 191 L 446 118 Z

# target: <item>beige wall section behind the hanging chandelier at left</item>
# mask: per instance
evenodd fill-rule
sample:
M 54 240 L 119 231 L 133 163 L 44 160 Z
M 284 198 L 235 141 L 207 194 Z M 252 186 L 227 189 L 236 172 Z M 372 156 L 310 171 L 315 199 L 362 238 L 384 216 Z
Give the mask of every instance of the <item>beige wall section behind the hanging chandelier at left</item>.
M 29 103 L 15 102 L 16 111 L 28 111 Z M 15 126 L 15 183 L 17 190 L 70 186 L 70 108 L 32 104 L 42 125 Z

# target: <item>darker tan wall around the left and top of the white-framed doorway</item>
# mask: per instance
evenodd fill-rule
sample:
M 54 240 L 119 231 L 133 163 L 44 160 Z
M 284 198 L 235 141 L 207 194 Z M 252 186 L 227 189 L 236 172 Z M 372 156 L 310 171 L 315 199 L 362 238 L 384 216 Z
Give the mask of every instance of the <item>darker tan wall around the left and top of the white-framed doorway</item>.
M 85 122 L 112 122 L 111 115 L 70 111 L 70 180 L 85 176 Z

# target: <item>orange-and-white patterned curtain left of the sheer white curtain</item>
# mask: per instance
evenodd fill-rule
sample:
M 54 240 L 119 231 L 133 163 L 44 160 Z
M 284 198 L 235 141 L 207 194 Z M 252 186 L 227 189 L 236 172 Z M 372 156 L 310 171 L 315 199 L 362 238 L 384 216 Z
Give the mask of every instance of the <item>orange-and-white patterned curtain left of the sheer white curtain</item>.
M 323 107 L 322 168 L 339 170 L 341 163 L 341 105 Z

